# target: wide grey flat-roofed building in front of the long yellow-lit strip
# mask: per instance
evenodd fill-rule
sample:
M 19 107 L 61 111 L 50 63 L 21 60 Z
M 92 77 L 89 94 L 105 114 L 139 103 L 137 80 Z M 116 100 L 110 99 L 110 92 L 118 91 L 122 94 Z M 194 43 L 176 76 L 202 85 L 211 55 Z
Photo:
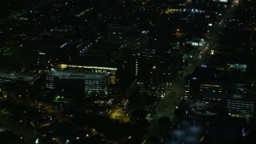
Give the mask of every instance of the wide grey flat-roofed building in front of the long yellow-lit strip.
M 46 87 L 54 90 L 66 89 L 75 94 L 109 94 L 110 73 L 52 69 L 47 74 L 46 82 Z

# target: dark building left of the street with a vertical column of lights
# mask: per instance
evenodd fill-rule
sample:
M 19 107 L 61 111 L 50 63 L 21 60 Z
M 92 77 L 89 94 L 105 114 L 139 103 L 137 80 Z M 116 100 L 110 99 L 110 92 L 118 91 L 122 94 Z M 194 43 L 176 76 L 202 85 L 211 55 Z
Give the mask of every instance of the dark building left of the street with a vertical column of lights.
M 134 75 L 146 85 L 165 87 L 178 74 L 182 56 L 171 50 L 140 50 L 133 54 Z

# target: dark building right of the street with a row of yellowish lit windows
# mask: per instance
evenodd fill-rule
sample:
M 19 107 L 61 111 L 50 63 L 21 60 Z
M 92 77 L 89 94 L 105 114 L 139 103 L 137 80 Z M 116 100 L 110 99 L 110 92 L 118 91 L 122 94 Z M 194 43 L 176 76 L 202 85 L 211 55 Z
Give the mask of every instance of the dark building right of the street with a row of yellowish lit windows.
M 196 100 L 224 100 L 228 94 L 247 93 L 246 80 L 232 70 L 197 67 L 186 77 L 185 97 Z

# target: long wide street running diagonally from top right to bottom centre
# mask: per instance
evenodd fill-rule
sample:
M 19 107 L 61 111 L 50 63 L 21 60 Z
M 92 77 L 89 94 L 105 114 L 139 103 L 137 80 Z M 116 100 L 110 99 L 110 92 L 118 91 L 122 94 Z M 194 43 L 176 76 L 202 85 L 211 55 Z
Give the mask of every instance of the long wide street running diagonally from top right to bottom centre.
M 197 66 L 201 66 L 202 62 L 207 60 L 207 56 L 210 55 L 211 50 L 214 50 L 215 42 L 218 40 L 218 36 L 221 34 L 222 29 L 224 28 L 226 22 L 230 20 L 230 18 L 234 17 L 234 10 L 238 6 L 238 1 L 230 2 L 230 9 L 226 10 L 226 13 L 223 14 L 220 22 L 216 22 L 214 25 L 213 31 L 210 33 L 210 37 L 206 40 L 206 44 L 200 48 L 202 52 L 196 53 L 193 59 L 190 61 L 188 66 L 182 70 L 182 75 L 178 74 L 176 78 L 177 81 L 174 81 L 172 86 L 166 90 L 166 97 L 162 99 L 162 102 L 158 103 L 157 109 L 155 110 L 154 118 L 150 121 L 150 126 L 148 127 L 147 135 L 157 135 L 159 137 L 165 133 L 163 129 L 158 125 L 158 118 L 162 116 L 174 117 L 174 109 L 178 106 L 178 100 L 181 100 L 184 94 L 184 85 L 186 74 L 192 74 L 194 68 Z

